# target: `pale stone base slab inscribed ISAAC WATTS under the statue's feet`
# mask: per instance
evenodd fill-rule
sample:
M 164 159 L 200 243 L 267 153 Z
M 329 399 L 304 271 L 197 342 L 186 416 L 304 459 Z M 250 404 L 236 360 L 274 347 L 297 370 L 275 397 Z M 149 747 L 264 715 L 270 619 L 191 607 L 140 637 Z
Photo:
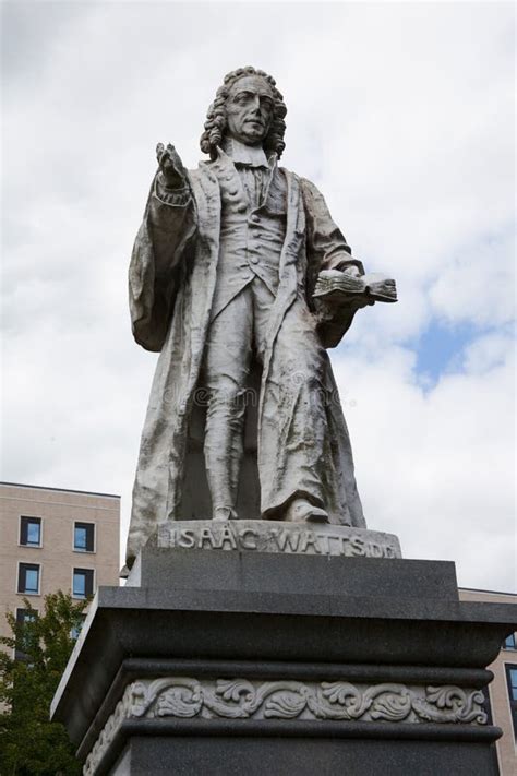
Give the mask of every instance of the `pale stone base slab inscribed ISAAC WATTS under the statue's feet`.
M 327 523 L 171 521 L 159 526 L 151 544 L 163 549 L 401 558 L 399 540 L 393 534 Z

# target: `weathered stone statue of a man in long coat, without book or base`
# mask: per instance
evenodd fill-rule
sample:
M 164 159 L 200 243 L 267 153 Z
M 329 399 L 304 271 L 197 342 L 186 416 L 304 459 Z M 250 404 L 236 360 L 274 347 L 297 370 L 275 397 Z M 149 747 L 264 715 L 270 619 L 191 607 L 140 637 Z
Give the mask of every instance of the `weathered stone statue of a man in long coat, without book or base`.
M 225 77 L 208 110 L 201 148 L 209 160 L 188 171 L 171 145 L 157 147 L 130 267 L 134 337 L 160 357 L 129 565 L 159 524 L 206 518 L 194 514 L 196 499 L 211 503 L 216 521 L 364 527 L 312 299 L 322 270 L 364 270 L 314 184 L 278 167 L 286 112 L 275 81 L 242 68 Z M 241 481 L 243 514 L 238 491 L 254 395 L 248 452 L 256 451 L 257 476 Z M 199 501 L 203 490 L 209 501 Z

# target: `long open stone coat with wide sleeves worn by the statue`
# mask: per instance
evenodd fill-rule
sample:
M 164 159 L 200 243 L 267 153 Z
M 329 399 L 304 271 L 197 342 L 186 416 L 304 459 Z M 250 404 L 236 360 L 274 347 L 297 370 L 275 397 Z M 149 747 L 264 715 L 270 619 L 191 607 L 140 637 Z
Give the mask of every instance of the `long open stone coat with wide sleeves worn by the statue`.
M 221 218 L 219 182 L 213 165 L 189 171 L 190 190 L 167 195 L 153 183 L 129 273 L 130 310 L 136 342 L 160 351 L 142 433 L 128 539 L 129 563 L 158 524 L 181 520 L 189 429 L 199 389 L 216 284 Z M 262 369 L 267 391 L 275 339 L 297 296 L 308 300 L 320 270 L 357 264 L 317 189 L 281 169 L 287 179 L 287 224 L 279 285 Z M 310 305 L 310 301 L 308 302 Z M 353 474 L 350 440 L 326 359 L 329 493 L 332 523 L 364 527 Z M 262 401 L 258 406 L 261 421 Z M 200 515 L 205 516 L 205 515 Z M 260 515 L 256 515 L 258 517 Z

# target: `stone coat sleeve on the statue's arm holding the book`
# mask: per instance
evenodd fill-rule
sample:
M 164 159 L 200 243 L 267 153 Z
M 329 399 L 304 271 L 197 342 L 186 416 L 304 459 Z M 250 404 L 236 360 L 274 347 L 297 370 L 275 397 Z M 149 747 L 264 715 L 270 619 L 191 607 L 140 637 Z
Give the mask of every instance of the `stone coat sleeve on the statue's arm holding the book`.
M 362 263 L 352 258 L 350 246 L 334 223 L 322 194 L 309 180 L 301 179 L 300 182 L 305 206 L 308 254 L 313 272 L 317 275 L 322 270 L 357 266 L 363 275 Z

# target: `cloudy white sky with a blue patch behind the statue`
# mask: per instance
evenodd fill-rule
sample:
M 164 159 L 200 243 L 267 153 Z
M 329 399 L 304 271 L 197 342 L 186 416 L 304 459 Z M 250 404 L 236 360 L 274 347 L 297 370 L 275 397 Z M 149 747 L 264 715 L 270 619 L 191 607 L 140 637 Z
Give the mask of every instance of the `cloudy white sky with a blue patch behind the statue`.
M 282 164 L 397 305 L 332 361 L 369 527 L 516 582 L 510 3 L 2 3 L 2 470 L 122 497 L 157 356 L 127 272 L 155 146 L 187 167 L 226 72 L 287 106 Z

